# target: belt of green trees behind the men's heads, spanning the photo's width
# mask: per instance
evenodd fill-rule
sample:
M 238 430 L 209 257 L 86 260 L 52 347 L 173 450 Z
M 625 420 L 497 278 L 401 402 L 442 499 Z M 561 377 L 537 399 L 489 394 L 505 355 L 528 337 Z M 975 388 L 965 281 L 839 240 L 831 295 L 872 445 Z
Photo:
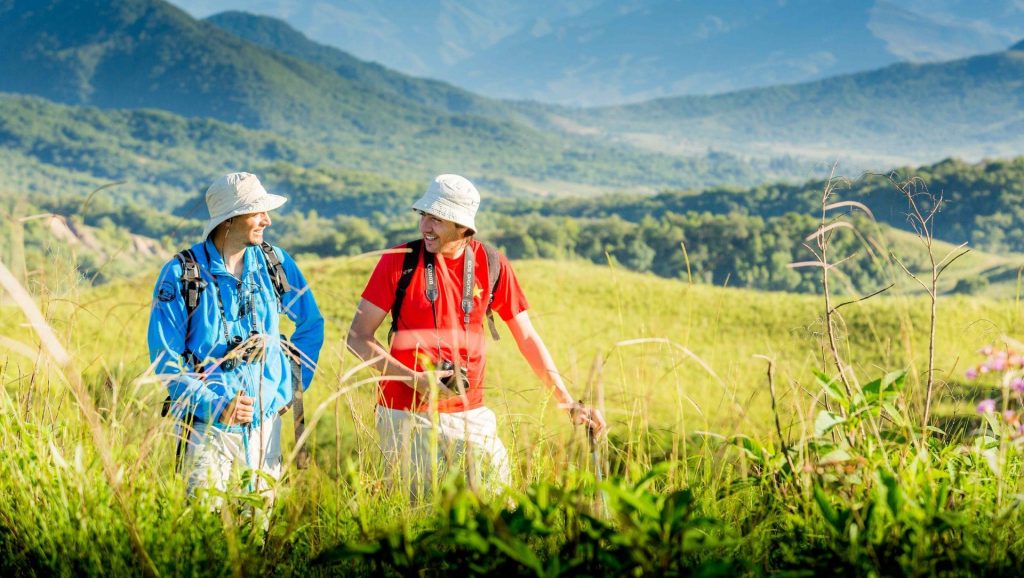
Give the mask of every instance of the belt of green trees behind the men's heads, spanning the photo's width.
M 256 170 L 272 191 L 292 199 L 287 210 L 274 216 L 269 237 L 293 254 L 356 255 L 417 236 L 416 217 L 408 207 L 422 190 L 419 181 L 288 163 L 257 166 Z M 936 194 L 944 193 L 948 204 L 939 213 L 936 236 L 952 243 L 972 241 L 976 249 L 945 276 L 943 290 L 978 292 L 991 286 L 995 294 L 1013 293 L 1011 286 L 1024 260 L 977 250 L 1021 250 L 1022 172 L 1024 158 L 977 165 L 946 161 L 907 169 L 899 177 L 919 177 L 916 192 L 927 184 Z M 817 270 L 787 265 L 813 258 L 804 239 L 820 222 L 822 188 L 822 181 L 810 181 L 749 191 L 518 202 L 485 195 L 477 220 L 480 237 L 512 258 L 610 261 L 615 266 L 695 282 L 815 292 L 820 287 Z M 34 207 L 18 209 L 16 216 L 54 212 L 124 243 L 129 242 L 128 233 L 160 238 L 168 251 L 188 244 L 201 228 L 196 214 L 190 219 L 168 218 L 145 203 L 114 202 L 118 189 L 89 196 L 87 203 L 87 191 L 77 198 L 37 195 L 29 199 Z M 859 218 L 855 221 L 859 234 L 841 230 L 833 239 L 834 255 L 853 256 L 842 265 L 841 291 L 869 292 L 901 278 L 890 251 L 915 271 L 926 265 L 920 243 L 897 229 L 908 228 L 907 208 L 887 178 L 867 176 L 841 185 L 834 200 L 863 201 L 882 221 L 877 225 Z M 919 201 L 926 203 L 924 197 Z M 950 223 L 961 225 L 950 228 Z M 31 221 L 25 226 L 42 223 Z M 30 236 L 45 237 L 45 232 Z M 949 247 L 943 245 L 938 251 Z M 53 260 L 43 252 L 34 254 L 39 266 Z M 82 254 L 79 259 L 87 257 Z M 6 257 L 0 254 L 0 258 Z M 79 264 L 90 275 L 116 270 L 95 258 Z

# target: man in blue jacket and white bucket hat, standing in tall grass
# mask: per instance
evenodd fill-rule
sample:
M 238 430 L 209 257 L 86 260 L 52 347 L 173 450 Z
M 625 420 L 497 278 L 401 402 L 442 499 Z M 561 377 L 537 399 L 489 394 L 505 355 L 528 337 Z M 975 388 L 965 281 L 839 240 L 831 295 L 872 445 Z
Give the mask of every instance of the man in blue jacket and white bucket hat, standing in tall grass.
M 230 489 L 241 469 L 244 488 L 273 497 L 265 478 L 281 477 L 281 414 L 293 398 L 281 314 L 295 322 L 303 389 L 316 367 L 324 318 L 295 261 L 263 241 L 268 211 L 286 201 L 253 174 L 218 178 L 203 241 L 165 264 L 154 288 L 150 358 L 181 420 L 190 496 Z

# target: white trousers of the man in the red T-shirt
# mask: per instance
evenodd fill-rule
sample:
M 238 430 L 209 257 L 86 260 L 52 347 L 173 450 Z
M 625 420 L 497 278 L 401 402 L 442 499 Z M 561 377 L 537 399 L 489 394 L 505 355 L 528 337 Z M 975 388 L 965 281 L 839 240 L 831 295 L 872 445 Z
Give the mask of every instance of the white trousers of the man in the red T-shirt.
M 377 406 L 377 437 L 390 484 L 412 499 L 430 494 L 434 476 L 443 480 L 462 467 L 470 488 L 497 493 L 512 479 L 508 452 L 498 438 L 498 419 L 487 408 L 429 413 Z

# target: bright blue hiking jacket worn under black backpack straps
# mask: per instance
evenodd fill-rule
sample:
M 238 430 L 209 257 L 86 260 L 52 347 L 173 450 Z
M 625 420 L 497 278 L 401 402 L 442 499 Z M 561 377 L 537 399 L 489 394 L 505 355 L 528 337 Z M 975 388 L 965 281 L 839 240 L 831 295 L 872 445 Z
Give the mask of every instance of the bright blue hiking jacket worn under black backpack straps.
M 282 313 L 295 322 L 290 340 L 302 353 L 302 387 L 309 387 L 324 344 L 324 317 L 295 261 L 284 250 L 273 249 L 292 287 L 282 295 L 280 304 L 266 258 L 258 246 L 246 248 L 241 280 L 227 271 L 213 242 L 191 247 L 207 286 L 193 314 L 187 341 L 180 281 L 182 265 L 173 258 L 161 270 L 153 291 L 150 360 L 158 377 L 166 381 L 171 411 L 179 418 L 194 412 L 202 421 L 241 430 L 241 426 L 228 428 L 217 419 L 240 390 L 256 399 L 251 424 L 254 427 L 291 403 L 292 366 L 281 343 Z M 218 295 L 223 302 L 223 316 Z M 222 318 L 230 337 L 246 339 L 252 331 L 266 336 L 263 361 L 239 363 L 230 371 L 220 367 L 217 362 L 227 349 Z M 186 350 L 199 360 L 202 372 L 197 372 L 184 359 Z

